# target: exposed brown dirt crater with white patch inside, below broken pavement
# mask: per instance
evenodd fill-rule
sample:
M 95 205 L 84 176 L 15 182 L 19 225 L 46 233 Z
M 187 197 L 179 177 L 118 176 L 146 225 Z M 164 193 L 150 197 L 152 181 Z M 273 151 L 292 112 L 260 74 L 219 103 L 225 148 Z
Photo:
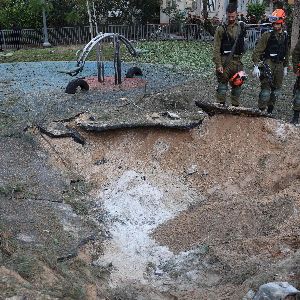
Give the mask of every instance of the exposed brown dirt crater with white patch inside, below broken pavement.
M 241 299 L 272 279 L 298 285 L 299 129 L 219 115 L 190 131 L 81 134 L 84 147 L 42 144 L 92 186 L 89 217 L 107 232 L 93 265 L 110 269 L 108 298 Z

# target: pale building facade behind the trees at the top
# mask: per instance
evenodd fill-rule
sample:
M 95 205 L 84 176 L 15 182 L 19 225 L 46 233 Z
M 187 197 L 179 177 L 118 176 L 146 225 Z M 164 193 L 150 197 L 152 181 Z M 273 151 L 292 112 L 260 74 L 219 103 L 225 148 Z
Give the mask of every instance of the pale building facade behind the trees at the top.
M 226 12 L 226 7 L 229 3 L 235 3 L 238 8 L 239 13 L 246 15 L 247 4 L 251 1 L 256 0 L 204 0 L 207 1 L 207 12 L 209 18 L 217 18 L 223 20 Z M 259 0 L 263 2 L 263 0 Z M 176 5 L 178 10 L 190 13 L 194 16 L 202 16 L 203 11 L 203 0 L 162 0 L 162 9 L 166 8 L 168 5 Z M 160 13 L 160 23 L 169 23 L 169 17 L 164 14 L 161 10 Z

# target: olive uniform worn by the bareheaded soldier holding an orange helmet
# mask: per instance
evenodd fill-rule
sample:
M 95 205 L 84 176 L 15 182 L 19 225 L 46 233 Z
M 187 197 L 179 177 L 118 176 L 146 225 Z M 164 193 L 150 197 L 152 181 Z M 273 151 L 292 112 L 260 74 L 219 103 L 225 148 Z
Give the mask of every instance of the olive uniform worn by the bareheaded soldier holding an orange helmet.
M 233 24 L 225 24 L 226 30 L 230 38 L 233 40 L 236 39 L 238 32 L 240 34 L 244 34 L 241 29 L 241 25 L 238 21 Z M 240 28 L 240 29 L 239 29 Z M 217 88 L 217 100 L 219 103 L 225 104 L 226 102 L 226 93 L 228 91 L 228 82 L 229 79 L 237 72 L 243 70 L 243 64 L 241 62 L 242 54 L 233 54 L 230 59 L 226 61 L 228 55 L 223 55 L 221 52 L 222 48 L 222 38 L 225 29 L 223 25 L 219 26 L 216 29 L 215 36 L 214 36 L 214 52 L 213 52 L 213 62 L 216 65 L 216 69 L 223 67 L 224 72 L 219 73 L 216 72 L 217 79 L 218 79 L 218 88 Z M 225 64 L 224 64 L 225 63 Z M 232 87 L 231 89 L 231 104 L 238 106 L 239 105 L 239 98 L 241 94 L 241 87 Z

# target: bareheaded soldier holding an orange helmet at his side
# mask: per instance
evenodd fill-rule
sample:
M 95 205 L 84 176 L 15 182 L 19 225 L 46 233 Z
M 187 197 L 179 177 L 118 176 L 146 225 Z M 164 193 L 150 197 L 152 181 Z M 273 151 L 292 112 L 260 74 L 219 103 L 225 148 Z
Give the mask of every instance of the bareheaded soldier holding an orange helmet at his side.
M 220 104 L 226 104 L 226 93 L 230 82 L 231 104 L 239 106 L 243 80 L 235 81 L 235 78 L 241 79 L 242 77 L 239 72 L 243 70 L 241 58 L 245 52 L 246 26 L 244 22 L 237 20 L 236 6 L 232 3 L 226 9 L 226 17 L 226 23 L 217 27 L 214 37 L 213 61 L 216 65 L 218 80 L 217 101 Z

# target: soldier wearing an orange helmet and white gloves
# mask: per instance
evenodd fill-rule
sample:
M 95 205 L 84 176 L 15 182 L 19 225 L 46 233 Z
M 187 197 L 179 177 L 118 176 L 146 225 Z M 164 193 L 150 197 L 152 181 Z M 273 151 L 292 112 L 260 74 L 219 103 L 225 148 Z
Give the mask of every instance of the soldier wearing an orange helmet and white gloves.
M 287 32 L 283 30 L 284 10 L 276 9 L 269 20 L 272 29 L 262 34 L 253 51 L 252 74 L 261 82 L 258 108 L 262 111 L 267 108 L 271 114 L 280 95 L 283 77 L 287 75 L 289 49 Z M 263 63 L 258 67 L 261 60 Z

